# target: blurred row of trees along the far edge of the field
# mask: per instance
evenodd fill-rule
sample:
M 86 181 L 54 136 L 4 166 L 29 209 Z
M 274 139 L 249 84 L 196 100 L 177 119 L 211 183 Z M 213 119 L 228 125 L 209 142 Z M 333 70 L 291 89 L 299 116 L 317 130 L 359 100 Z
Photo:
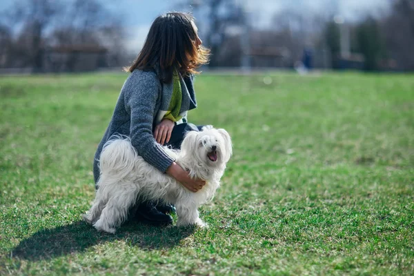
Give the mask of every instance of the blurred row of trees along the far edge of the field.
M 393 0 L 382 16 L 369 14 L 339 24 L 330 16 L 282 10 L 268 28 L 257 28 L 260 14 L 233 0 L 177 0 L 191 6 L 201 36 L 212 50 L 211 67 L 294 67 L 305 48 L 314 66 L 342 68 L 351 62 L 364 70 L 414 70 L 414 2 Z M 341 51 L 341 28 L 348 31 L 350 57 Z M 33 72 L 95 70 L 126 66 L 122 14 L 98 0 L 21 0 L 0 14 L 0 68 Z M 137 52 L 132 53 L 136 55 Z M 92 64 L 93 66 L 87 66 Z

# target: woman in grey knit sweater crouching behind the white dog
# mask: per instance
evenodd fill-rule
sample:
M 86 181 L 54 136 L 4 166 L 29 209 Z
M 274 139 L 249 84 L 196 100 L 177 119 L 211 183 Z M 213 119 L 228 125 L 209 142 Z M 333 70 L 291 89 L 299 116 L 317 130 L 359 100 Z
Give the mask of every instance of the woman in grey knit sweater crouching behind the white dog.
M 209 51 L 201 46 L 194 18 L 169 12 L 152 23 L 137 60 L 128 72 L 112 119 L 95 153 L 93 172 L 99 179 L 103 145 L 114 134 L 130 137 L 132 146 L 149 164 L 174 177 L 192 192 L 205 182 L 191 179 L 161 145 L 179 148 L 185 132 L 199 127 L 187 123 L 187 111 L 197 107 L 193 87 L 197 67 L 208 62 Z M 170 224 L 171 206 L 153 202 L 137 204 L 137 218 L 152 224 Z

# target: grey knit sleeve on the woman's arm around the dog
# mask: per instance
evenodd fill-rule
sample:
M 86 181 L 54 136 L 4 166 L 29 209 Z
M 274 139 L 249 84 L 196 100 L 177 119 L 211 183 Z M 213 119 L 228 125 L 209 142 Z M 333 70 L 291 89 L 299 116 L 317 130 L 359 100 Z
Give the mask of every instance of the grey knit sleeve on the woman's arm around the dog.
M 132 73 L 126 81 L 125 107 L 130 114 L 130 138 L 132 146 L 150 165 L 166 172 L 172 159 L 152 135 L 155 103 L 161 92 L 161 83 L 152 72 Z

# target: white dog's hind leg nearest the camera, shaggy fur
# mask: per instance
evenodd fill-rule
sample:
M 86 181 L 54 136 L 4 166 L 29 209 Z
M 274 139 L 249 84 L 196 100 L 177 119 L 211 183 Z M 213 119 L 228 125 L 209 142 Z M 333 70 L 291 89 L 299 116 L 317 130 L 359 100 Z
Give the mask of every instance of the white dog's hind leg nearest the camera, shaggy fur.
M 119 187 L 119 190 L 109 199 L 102 210 L 101 217 L 93 226 L 99 231 L 115 234 L 115 228 L 126 220 L 128 210 L 135 204 L 137 193 L 138 191 L 133 184 Z

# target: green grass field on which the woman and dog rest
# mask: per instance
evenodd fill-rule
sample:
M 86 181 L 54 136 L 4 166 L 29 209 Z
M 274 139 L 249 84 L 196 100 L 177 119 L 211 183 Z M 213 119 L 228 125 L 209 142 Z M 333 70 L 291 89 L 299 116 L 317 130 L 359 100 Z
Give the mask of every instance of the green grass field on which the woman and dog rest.
M 0 275 L 413 275 L 414 76 L 202 75 L 234 155 L 209 228 L 83 221 L 126 75 L 0 77 Z

